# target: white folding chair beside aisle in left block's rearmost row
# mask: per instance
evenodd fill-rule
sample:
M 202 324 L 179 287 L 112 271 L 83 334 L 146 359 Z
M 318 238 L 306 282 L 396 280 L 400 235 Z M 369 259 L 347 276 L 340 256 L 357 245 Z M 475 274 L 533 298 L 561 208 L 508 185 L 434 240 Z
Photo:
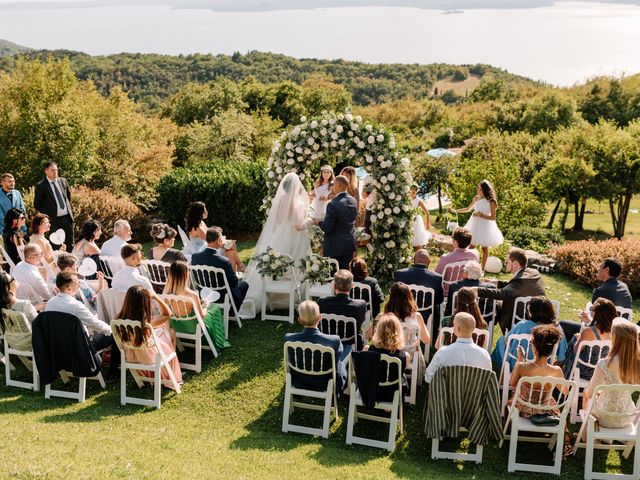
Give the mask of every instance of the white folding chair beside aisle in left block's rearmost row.
M 182 391 L 178 380 L 173 374 L 171 365 L 169 365 L 169 362 L 176 357 L 176 353 L 172 352 L 166 355 L 158 342 L 154 329 L 148 325 L 146 329 L 149 331 L 148 335 L 143 331 L 141 322 L 137 320 L 113 320 L 111 322 L 111 332 L 118 345 L 122 359 L 120 364 L 120 404 L 126 405 L 130 403 L 160 408 L 162 385 L 172 386 L 176 393 Z M 122 333 L 125 334 L 122 335 Z M 133 339 L 136 337 L 141 337 L 145 340 L 141 345 L 136 346 L 133 343 Z M 153 358 L 154 361 L 153 363 L 129 362 L 126 358 L 126 350 L 147 352 L 149 357 Z M 144 382 L 153 384 L 153 400 L 127 396 L 127 370 L 131 372 L 131 376 L 139 388 L 142 388 Z M 162 378 L 163 370 L 167 372 L 167 376 L 169 377 L 166 380 Z M 140 375 L 138 373 L 140 371 L 153 372 L 153 376 L 147 377 Z

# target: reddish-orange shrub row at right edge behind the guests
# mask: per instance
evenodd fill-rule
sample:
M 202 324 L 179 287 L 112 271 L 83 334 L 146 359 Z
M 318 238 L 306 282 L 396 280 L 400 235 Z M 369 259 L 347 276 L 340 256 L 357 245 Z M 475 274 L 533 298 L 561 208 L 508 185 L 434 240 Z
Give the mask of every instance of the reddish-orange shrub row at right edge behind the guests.
M 590 287 L 599 284 L 596 274 L 602 260 L 613 257 L 622 264 L 619 278 L 629 286 L 632 295 L 640 294 L 640 240 L 569 242 L 556 247 L 553 255 L 558 260 L 561 271 L 568 273 L 578 283 Z

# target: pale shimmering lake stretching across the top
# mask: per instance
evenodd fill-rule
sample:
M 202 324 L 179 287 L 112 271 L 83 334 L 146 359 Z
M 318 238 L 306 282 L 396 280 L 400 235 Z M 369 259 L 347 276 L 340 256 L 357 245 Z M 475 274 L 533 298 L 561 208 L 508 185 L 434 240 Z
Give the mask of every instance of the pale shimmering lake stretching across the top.
M 640 7 L 619 4 L 446 15 L 405 7 L 226 13 L 44 3 L 0 9 L 0 38 L 90 54 L 261 50 L 376 63 L 488 63 L 556 85 L 640 72 Z

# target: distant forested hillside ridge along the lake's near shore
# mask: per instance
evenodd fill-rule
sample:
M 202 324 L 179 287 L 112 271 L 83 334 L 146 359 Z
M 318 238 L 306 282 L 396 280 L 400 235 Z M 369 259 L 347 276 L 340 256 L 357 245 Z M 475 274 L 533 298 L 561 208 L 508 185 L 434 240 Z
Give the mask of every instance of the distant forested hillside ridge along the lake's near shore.
M 185 84 L 206 83 L 218 77 L 235 81 L 253 77 L 262 83 L 289 80 L 301 84 L 314 75 L 328 76 L 345 86 L 355 105 L 430 97 L 437 82 L 451 78 L 458 70 L 462 70 L 465 77 L 472 75 L 471 78 L 479 81 L 495 78 L 512 85 L 535 85 L 525 77 L 480 64 L 369 64 L 345 60 L 296 59 L 256 51 L 245 55 L 236 52 L 233 55 L 122 53 L 91 56 L 68 50 L 38 50 L 30 51 L 27 55 L 68 57 L 77 75 L 83 80 L 92 80 L 101 92 L 108 93 L 112 87 L 119 85 L 131 98 L 152 111 L 158 110 L 169 96 Z M 12 57 L 0 58 L 0 70 L 11 71 L 14 62 L 15 58 Z

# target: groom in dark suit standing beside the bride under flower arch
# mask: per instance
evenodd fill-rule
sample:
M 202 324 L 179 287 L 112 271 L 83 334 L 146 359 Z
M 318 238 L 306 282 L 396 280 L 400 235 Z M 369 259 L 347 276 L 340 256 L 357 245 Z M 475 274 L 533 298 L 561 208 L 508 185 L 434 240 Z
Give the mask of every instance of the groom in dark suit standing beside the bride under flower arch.
M 347 194 L 348 186 L 347 177 L 336 177 L 331 190 L 335 198 L 327 205 L 324 220 L 315 220 L 324 232 L 324 255 L 336 259 L 342 269 L 349 268 L 349 262 L 356 251 L 355 225 L 358 204 L 355 198 Z

